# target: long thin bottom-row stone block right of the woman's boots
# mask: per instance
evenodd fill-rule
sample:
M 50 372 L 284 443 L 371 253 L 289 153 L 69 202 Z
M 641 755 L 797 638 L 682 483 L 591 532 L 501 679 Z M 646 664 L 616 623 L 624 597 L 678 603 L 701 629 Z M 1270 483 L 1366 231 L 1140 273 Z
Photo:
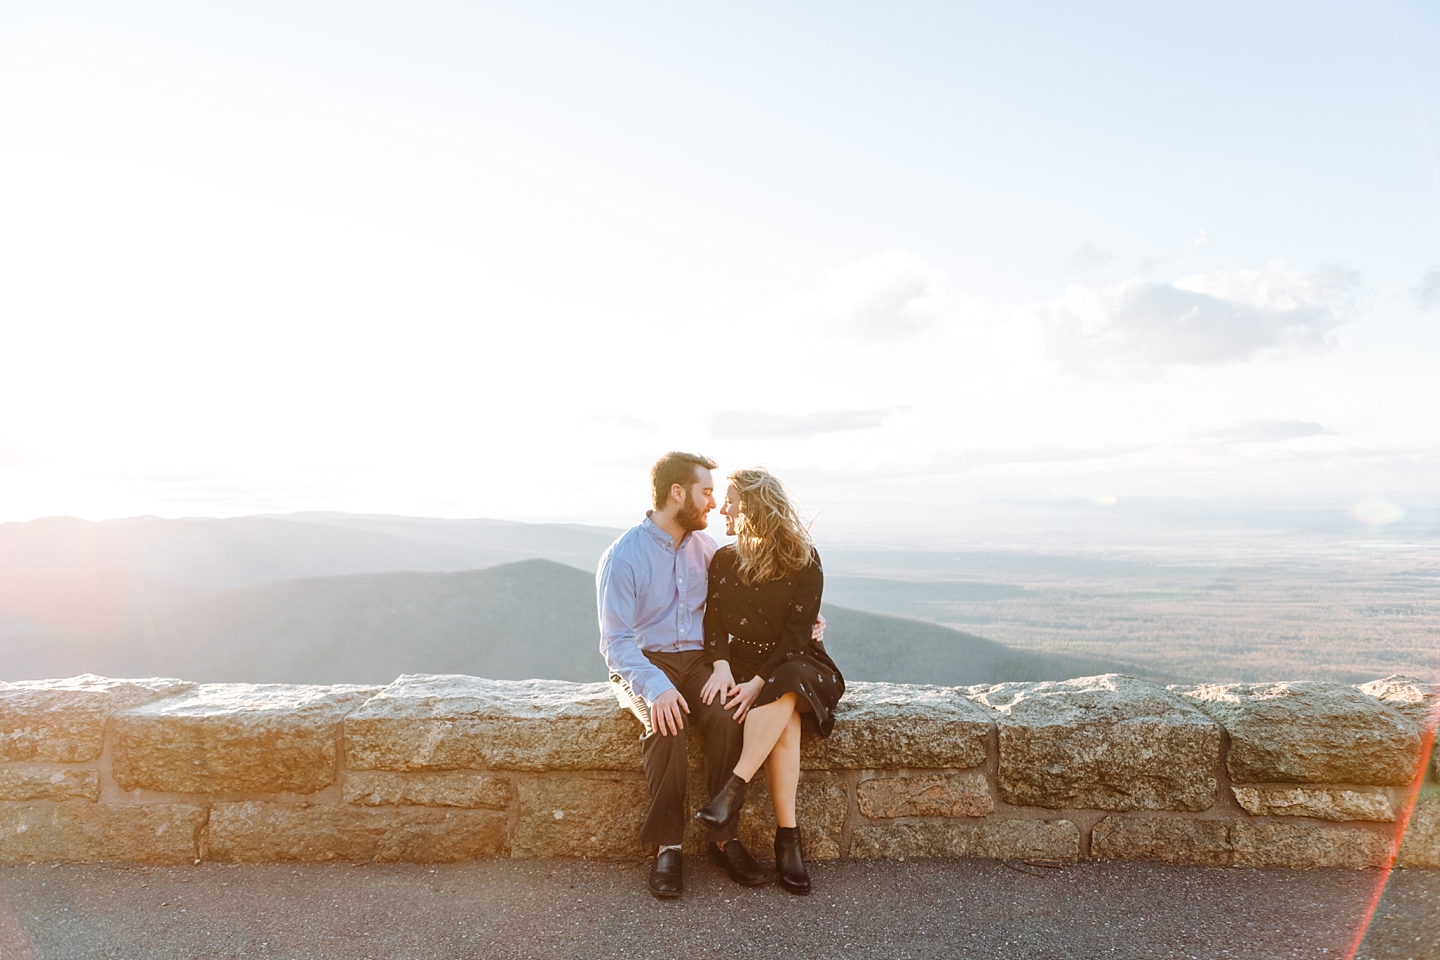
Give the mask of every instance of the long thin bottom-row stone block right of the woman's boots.
M 1080 829 L 1070 820 L 863 823 L 850 841 L 850 855 L 1076 861 Z

